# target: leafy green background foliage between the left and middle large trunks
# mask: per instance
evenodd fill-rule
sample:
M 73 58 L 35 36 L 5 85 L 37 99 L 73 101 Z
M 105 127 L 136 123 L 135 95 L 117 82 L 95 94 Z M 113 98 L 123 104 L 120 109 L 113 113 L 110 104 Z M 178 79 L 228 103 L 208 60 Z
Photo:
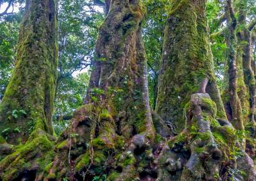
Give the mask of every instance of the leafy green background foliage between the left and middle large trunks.
M 56 84 L 54 119 L 72 117 L 74 109 L 81 107 L 87 86 L 79 86 L 75 74 L 91 69 L 94 48 L 103 13 L 90 1 L 59 1 L 58 6 L 58 78 Z M 89 71 L 88 71 L 89 74 Z M 87 82 L 84 82 L 87 84 Z M 84 88 L 84 90 L 82 90 Z M 78 99 L 77 99 L 78 98 Z M 74 103 L 77 102 L 77 103 Z

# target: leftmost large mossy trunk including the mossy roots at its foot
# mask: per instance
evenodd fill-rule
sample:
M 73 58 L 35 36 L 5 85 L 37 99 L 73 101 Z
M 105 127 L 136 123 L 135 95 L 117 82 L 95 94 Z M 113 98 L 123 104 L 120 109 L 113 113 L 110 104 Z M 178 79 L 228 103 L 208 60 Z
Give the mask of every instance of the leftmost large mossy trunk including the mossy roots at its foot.
M 26 1 L 17 60 L 0 105 L 0 180 L 36 180 L 36 170 L 52 161 L 57 33 L 56 1 Z

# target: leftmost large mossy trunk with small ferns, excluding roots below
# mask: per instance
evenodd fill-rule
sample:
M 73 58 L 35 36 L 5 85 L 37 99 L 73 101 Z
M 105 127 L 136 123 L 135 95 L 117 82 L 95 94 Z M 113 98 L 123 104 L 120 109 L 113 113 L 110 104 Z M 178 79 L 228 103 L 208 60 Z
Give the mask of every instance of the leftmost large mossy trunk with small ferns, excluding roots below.
M 9 143 L 26 141 L 34 129 L 53 134 L 56 12 L 54 0 L 26 2 L 15 68 L 0 105 L 0 133 Z

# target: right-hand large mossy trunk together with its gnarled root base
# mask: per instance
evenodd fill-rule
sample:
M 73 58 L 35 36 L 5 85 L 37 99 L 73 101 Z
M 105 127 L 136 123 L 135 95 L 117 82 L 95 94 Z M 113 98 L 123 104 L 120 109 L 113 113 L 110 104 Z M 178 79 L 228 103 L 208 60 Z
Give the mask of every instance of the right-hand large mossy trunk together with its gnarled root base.
M 255 178 L 252 160 L 226 120 L 218 93 L 205 8 L 204 0 L 173 1 L 165 28 L 157 113 L 173 122 L 179 134 L 161 150 L 160 180 Z M 236 73 L 233 54 L 230 59 L 230 72 Z M 230 91 L 236 89 L 237 75 L 232 76 Z M 230 169 L 249 172 L 231 176 Z

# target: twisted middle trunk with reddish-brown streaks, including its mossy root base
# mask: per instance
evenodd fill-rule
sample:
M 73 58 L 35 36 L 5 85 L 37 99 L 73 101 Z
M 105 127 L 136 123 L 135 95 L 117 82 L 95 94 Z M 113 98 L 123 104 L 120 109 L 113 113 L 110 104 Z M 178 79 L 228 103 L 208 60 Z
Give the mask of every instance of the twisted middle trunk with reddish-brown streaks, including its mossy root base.
M 97 86 L 75 112 L 71 129 L 58 140 L 48 180 L 92 180 L 104 174 L 109 180 L 144 176 L 141 173 L 150 162 L 146 150 L 155 139 L 140 33 L 144 13 L 139 0 L 111 1 L 95 48 L 100 62 Z

